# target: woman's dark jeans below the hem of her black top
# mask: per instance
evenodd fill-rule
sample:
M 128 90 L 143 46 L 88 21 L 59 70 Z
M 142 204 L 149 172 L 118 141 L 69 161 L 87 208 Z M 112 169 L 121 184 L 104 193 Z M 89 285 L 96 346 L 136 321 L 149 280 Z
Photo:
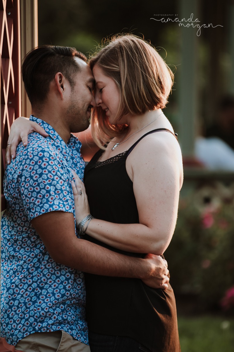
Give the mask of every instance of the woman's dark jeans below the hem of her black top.
M 91 352 L 151 352 L 126 336 L 109 336 L 89 331 L 88 339 Z

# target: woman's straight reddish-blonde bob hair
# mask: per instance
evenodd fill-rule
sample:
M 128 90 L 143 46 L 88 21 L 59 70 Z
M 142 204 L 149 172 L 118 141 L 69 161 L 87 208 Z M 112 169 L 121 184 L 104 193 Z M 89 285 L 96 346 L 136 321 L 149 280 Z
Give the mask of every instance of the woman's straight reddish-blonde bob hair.
M 120 93 L 116 124 L 109 123 L 106 111 L 101 107 L 92 111 L 92 136 L 101 149 L 126 129 L 126 125 L 118 124 L 124 114 L 134 116 L 166 106 L 174 75 L 145 40 L 133 34 L 114 36 L 99 48 L 88 64 L 91 69 L 98 65 L 115 81 Z

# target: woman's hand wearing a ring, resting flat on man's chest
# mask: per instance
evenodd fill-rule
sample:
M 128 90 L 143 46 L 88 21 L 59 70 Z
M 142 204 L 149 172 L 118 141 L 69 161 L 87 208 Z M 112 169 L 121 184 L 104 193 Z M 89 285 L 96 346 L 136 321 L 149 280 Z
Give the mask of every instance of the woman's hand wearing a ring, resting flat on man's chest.
M 75 220 L 76 226 L 80 224 L 80 222 L 90 214 L 89 204 L 88 204 L 88 197 L 85 191 L 85 185 L 81 181 L 81 179 L 76 175 L 75 171 L 72 170 L 72 174 L 75 179 L 72 181 L 72 191 L 74 196 L 74 203 L 75 203 Z M 84 226 L 85 228 L 85 226 Z

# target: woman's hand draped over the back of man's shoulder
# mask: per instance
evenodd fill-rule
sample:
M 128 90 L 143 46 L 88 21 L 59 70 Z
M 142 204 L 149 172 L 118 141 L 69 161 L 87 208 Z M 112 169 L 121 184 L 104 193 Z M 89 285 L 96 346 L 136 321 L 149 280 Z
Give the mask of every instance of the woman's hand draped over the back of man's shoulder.
M 16 148 L 22 140 L 23 145 L 26 147 L 28 144 L 28 134 L 37 132 L 43 137 L 48 137 L 48 133 L 39 126 L 36 122 L 29 121 L 26 117 L 18 117 L 11 125 L 11 131 L 7 141 L 5 160 L 6 164 L 11 163 L 11 159 L 15 158 Z

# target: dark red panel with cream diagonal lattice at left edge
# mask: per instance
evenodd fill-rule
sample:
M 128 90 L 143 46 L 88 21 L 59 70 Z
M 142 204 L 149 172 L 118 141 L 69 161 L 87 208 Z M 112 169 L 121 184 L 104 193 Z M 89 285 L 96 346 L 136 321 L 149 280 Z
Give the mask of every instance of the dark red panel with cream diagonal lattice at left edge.
M 1 182 L 10 128 L 15 117 L 21 114 L 19 11 L 19 0 L 0 0 Z M 4 202 L 2 202 L 2 210 L 4 208 Z

